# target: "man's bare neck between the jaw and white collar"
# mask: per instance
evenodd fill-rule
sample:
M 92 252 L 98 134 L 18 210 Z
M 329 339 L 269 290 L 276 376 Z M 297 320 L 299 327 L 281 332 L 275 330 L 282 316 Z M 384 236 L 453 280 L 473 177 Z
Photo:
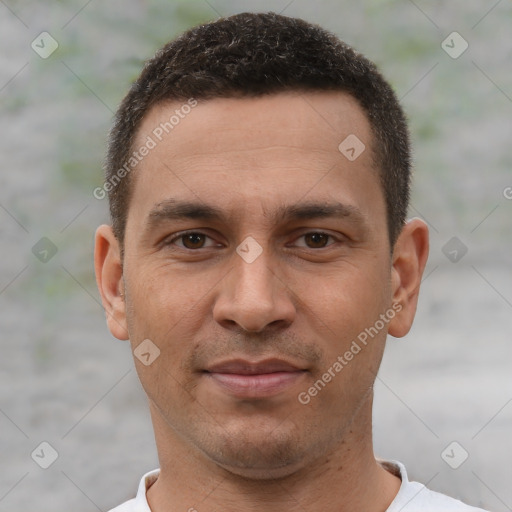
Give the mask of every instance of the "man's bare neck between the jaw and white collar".
M 334 449 L 272 479 L 220 467 L 171 429 L 151 404 L 160 475 L 147 492 L 153 512 L 223 510 L 384 512 L 400 488 L 373 453 L 371 398 Z

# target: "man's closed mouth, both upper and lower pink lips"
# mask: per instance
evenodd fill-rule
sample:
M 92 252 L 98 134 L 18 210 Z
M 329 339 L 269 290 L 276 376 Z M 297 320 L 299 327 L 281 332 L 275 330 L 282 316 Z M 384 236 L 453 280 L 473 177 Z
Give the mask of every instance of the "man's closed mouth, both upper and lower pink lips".
M 286 391 L 306 370 L 281 359 L 234 359 L 212 365 L 204 373 L 224 392 L 237 398 L 265 398 Z

